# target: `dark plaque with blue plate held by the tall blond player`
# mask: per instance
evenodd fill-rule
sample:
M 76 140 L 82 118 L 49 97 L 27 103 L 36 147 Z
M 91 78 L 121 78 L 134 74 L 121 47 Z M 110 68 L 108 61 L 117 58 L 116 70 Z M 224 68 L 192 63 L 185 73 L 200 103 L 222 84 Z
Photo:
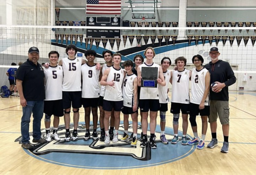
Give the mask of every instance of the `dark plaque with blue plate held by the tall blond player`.
M 141 87 L 157 88 L 157 67 L 142 67 L 141 68 Z

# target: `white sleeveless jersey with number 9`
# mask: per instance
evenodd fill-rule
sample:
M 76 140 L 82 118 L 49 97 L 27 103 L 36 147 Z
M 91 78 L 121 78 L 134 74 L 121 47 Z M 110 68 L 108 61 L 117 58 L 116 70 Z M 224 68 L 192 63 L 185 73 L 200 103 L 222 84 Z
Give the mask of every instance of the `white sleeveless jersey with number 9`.
M 100 70 L 96 70 L 96 64 L 93 66 L 83 64 L 81 70 L 83 77 L 82 98 L 98 98 L 100 96 Z

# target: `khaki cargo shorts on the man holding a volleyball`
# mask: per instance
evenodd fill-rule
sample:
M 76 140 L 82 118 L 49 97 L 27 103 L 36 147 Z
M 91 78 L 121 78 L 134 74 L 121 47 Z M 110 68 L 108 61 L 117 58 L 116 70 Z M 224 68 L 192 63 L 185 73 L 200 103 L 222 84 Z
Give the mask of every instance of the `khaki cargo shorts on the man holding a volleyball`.
M 228 101 L 211 100 L 209 123 L 216 122 L 217 117 L 222 125 L 229 124 L 229 103 Z

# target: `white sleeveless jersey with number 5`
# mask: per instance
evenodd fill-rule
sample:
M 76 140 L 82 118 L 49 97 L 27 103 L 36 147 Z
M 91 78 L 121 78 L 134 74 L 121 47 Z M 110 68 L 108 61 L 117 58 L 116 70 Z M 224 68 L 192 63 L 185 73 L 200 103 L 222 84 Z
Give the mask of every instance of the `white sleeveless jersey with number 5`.
M 45 101 L 62 99 L 62 67 L 57 65 L 55 67 L 49 66 L 44 68 L 45 78 Z

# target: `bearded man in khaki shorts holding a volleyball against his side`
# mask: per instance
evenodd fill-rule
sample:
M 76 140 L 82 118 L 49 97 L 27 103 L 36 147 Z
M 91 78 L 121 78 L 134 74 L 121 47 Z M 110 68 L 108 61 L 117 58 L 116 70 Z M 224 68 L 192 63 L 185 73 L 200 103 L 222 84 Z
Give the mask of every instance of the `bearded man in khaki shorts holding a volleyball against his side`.
M 224 142 L 221 148 L 222 153 L 228 153 L 228 136 L 229 136 L 229 95 L 228 86 L 236 82 L 234 72 L 228 62 L 219 60 L 219 53 L 217 47 L 212 47 L 210 50 L 211 62 L 204 67 L 207 68 L 211 74 L 211 84 L 217 83 L 216 86 L 210 90 L 210 115 L 209 123 L 211 126 L 212 141 L 207 145 L 208 148 L 214 148 L 218 145 L 217 141 L 217 117 L 222 124 Z

